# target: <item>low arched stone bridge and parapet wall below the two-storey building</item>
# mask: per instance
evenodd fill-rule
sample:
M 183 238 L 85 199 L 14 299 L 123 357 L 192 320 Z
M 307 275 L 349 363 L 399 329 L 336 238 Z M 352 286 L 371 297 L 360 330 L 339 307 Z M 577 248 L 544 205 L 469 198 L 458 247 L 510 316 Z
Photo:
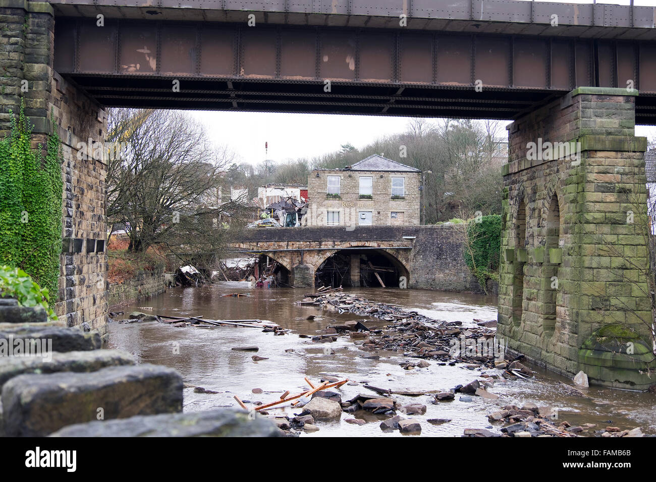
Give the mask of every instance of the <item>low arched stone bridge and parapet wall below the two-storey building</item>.
M 294 287 L 314 285 L 314 276 L 331 256 L 350 254 L 358 263 L 364 253 L 381 255 L 405 277 L 409 288 L 480 291 L 462 259 L 455 226 L 344 226 L 246 230 L 234 252 L 266 255 L 289 271 Z M 355 258 L 354 255 L 358 257 Z M 352 282 L 359 269 L 351 270 Z M 358 277 L 358 279 L 356 279 Z M 394 280 L 397 287 L 399 280 Z M 359 284 L 358 284 L 359 286 Z

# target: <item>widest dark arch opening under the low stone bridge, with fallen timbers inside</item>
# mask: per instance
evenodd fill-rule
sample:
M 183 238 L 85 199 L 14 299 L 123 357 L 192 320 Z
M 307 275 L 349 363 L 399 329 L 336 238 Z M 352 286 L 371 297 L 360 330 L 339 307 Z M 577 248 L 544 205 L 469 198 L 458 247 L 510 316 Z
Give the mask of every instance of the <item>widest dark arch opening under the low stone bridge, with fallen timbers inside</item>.
M 325 287 L 397 288 L 404 286 L 409 271 L 384 249 L 342 249 L 321 262 L 314 274 L 314 285 Z

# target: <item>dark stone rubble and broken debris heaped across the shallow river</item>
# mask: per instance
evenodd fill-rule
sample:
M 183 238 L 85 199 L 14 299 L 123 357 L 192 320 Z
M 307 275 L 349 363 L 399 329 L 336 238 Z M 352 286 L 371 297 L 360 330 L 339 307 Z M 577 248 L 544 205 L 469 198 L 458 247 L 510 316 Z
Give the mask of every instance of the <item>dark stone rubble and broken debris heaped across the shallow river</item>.
M 377 359 L 380 353 L 396 352 L 401 367 L 407 371 L 425 369 L 431 365 L 459 365 L 474 373 L 453 387 L 426 387 L 425 390 L 394 390 L 394 388 L 359 384 L 349 381 L 347 386 L 359 386 L 363 392 L 355 397 L 342 399 L 340 390 L 323 390 L 312 394 L 309 400 L 295 405 L 293 414 L 274 418 L 286 435 L 295 436 L 301 430 L 318 430 L 316 420 L 340 420 L 348 424 L 362 425 L 379 422 L 382 432 L 398 430 L 405 434 L 419 434 L 425 424 L 447 424 L 451 419 L 426 418 L 426 403 L 434 405 L 457 401 L 470 401 L 481 397 L 489 401 L 487 416 L 489 425 L 466 428 L 466 437 L 642 437 L 640 428 L 621 430 L 598 424 L 572 425 L 558 416 L 558 409 L 524 403 L 504 403 L 503 397 L 494 393 L 495 386 L 504 386 L 508 380 L 526 380 L 540 383 L 535 372 L 518 359 L 506 359 L 504 346 L 496 340 L 496 322 L 480 321 L 473 327 L 463 327 L 462 321 L 446 322 L 421 315 L 391 304 L 371 302 L 355 294 L 331 292 L 309 295 L 301 302 L 304 306 L 316 306 L 325 316 L 329 313 L 353 313 L 359 319 L 333 323 L 317 334 L 301 334 L 317 344 L 351 338 L 363 358 Z M 316 317 L 316 315 L 310 315 Z M 308 317 L 308 318 L 310 318 Z M 367 327 L 365 317 L 389 321 L 382 329 Z M 335 322 L 335 320 L 333 320 Z M 472 378 L 474 378 L 472 380 Z M 336 378 L 325 378 L 331 382 Z M 556 384 L 556 390 L 568 396 L 585 397 L 581 390 L 568 384 Z M 375 393 L 371 393 L 375 392 Z M 402 403 L 400 397 L 418 397 L 425 403 Z M 420 398 L 423 397 L 423 398 Z M 426 398 L 428 400 L 426 401 Z M 456 400 L 457 399 L 457 400 Z M 513 398 L 513 401 L 515 399 Z M 276 409 L 272 409 L 270 415 Z M 348 414 L 342 418 L 342 414 Z M 376 416 L 375 419 L 372 416 Z M 382 418 L 382 420 L 380 420 Z M 308 424 L 308 428 L 305 425 Z

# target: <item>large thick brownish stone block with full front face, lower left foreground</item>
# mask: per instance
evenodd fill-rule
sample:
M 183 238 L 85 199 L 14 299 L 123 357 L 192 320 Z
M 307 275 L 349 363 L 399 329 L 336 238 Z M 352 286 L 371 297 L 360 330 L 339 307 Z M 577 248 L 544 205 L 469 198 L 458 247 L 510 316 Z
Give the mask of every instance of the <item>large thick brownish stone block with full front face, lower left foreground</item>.
M 3 433 L 42 437 L 72 424 L 182 411 L 182 377 L 159 365 L 24 374 L 2 389 Z M 102 418 L 101 418 L 102 417 Z

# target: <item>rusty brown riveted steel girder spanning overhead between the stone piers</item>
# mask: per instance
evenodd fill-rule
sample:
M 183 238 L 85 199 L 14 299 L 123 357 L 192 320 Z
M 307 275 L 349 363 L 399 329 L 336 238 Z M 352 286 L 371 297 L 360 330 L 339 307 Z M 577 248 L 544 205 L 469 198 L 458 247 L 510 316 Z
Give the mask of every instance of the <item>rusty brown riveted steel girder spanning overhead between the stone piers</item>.
M 656 119 L 645 41 L 57 18 L 54 69 L 106 106 L 510 119 L 631 85 L 636 119 Z

